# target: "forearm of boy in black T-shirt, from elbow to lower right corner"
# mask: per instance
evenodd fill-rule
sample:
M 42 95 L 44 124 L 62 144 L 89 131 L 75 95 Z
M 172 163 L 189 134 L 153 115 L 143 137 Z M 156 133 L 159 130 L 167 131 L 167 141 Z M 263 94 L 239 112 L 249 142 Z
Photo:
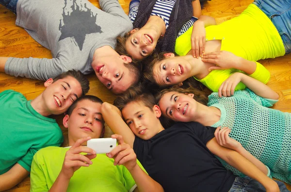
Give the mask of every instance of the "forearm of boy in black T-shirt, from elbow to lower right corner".
M 251 177 L 261 183 L 266 190 L 272 189 L 277 185 L 275 181 L 267 177 L 252 162 L 248 161 L 236 151 L 228 151 L 227 158 L 224 159 L 228 164 L 241 171 L 244 175 Z

